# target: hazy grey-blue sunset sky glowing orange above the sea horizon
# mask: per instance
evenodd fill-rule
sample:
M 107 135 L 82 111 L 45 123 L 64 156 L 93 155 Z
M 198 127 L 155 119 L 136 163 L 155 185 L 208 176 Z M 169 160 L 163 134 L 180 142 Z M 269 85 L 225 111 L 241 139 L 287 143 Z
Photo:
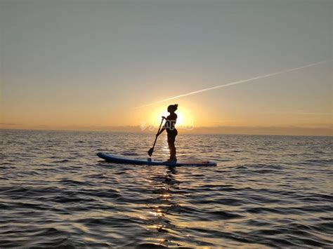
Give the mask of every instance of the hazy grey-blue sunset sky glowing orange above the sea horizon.
M 178 103 L 178 126 L 193 132 L 332 135 L 332 10 L 330 0 L 0 0 L 1 128 L 140 131 Z

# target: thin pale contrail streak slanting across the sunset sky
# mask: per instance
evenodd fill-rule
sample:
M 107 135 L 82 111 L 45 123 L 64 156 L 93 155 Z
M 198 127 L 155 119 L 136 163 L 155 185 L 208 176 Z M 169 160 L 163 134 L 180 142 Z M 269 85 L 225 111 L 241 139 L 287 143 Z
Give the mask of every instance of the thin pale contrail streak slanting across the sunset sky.
M 285 73 L 293 72 L 293 71 L 296 71 L 296 70 L 299 70 L 299 69 L 303 69 L 303 68 L 306 68 L 306 67 L 313 67 L 315 65 L 322 64 L 322 63 L 325 63 L 325 62 L 331 62 L 332 60 L 333 59 L 323 60 L 321 62 L 315 62 L 313 64 L 309 64 L 309 65 L 302 66 L 302 67 L 295 67 L 295 68 L 292 68 L 292 69 L 285 69 L 283 71 L 275 72 L 273 74 L 260 75 L 260 76 L 256 76 L 256 77 L 250 78 L 250 79 L 242 79 L 240 81 L 234 81 L 234 82 L 227 83 L 227 84 L 224 84 L 224 85 L 218 85 L 218 86 L 213 86 L 211 88 L 204 88 L 204 89 L 201 89 L 201 90 L 195 90 L 195 91 L 190 92 L 190 93 L 184 93 L 184 94 L 177 95 L 177 96 L 174 96 L 174 97 L 168 97 L 168 98 L 166 98 L 164 100 L 159 100 L 157 102 L 152 102 L 152 103 L 147 104 L 147 105 L 141 105 L 139 107 L 136 107 L 135 109 L 139 109 L 139 108 L 142 108 L 142 107 L 148 107 L 150 105 L 155 105 L 155 104 L 162 103 L 162 102 L 165 102 L 165 101 L 168 101 L 168 100 L 174 100 L 174 99 L 176 99 L 178 97 L 185 97 L 185 96 L 193 95 L 193 94 L 196 94 L 196 93 L 206 92 L 207 90 L 214 90 L 214 89 L 223 88 L 223 87 L 226 87 L 226 86 L 233 86 L 233 85 L 237 85 L 237 84 L 240 84 L 240 83 L 246 83 L 246 82 L 249 82 L 249 81 L 254 81 L 256 79 L 263 79 L 263 78 L 267 78 L 267 77 L 278 75 L 278 74 L 285 74 Z

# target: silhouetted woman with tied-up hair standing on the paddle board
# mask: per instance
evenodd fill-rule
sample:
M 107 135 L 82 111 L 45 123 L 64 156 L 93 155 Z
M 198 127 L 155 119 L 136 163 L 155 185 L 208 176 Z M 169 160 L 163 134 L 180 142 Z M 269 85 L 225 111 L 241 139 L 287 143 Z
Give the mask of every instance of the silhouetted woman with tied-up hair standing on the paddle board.
M 169 105 L 168 112 L 170 113 L 169 116 L 163 117 L 166 121 L 164 123 L 164 126 L 161 130 L 159 130 L 159 133 L 157 133 L 157 136 L 159 136 L 164 130 L 166 130 L 166 133 L 168 134 L 168 145 L 170 150 L 170 159 L 169 162 L 175 162 L 177 161 L 176 158 L 176 147 L 175 147 L 175 140 L 176 135 L 178 134 L 178 131 L 175 128 L 175 124 L 177 121 L 177 114 L 175 114 L 176 110 L 178 109 L 178 105 Z

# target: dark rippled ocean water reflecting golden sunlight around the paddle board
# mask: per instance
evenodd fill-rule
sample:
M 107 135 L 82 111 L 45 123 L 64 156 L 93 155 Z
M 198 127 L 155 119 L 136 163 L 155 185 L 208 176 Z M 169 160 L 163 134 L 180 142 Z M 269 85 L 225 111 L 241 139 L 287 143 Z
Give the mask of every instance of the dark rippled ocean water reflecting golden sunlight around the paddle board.
M 96 156 L 145 157 L 154 135 L 0 134 L 0 248 L 333 247 L 333 137 L 180 132 L 178 159 L 218 164 L 169 168 Z

